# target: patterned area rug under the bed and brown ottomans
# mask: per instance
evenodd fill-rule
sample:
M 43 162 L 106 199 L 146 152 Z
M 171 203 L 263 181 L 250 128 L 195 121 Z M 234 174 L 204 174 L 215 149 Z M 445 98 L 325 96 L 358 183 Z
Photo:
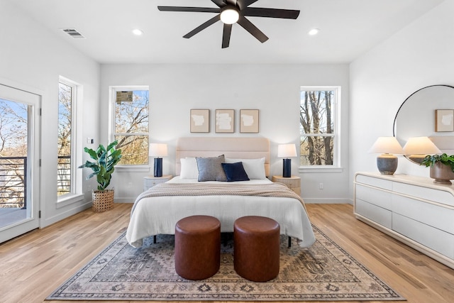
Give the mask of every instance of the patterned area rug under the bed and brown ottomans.
M 403 300 L 319 228 L 316 243 L 300 248 L 281 239 L 279 275 L 250 282 L 233 270 L 233 234 L 223 234 L 221 268 L 206 280 L 175 273 L 174 236 L 157 236 L 133 248 L 119 237 L 48 299 L 182 301 L 365 301 Z

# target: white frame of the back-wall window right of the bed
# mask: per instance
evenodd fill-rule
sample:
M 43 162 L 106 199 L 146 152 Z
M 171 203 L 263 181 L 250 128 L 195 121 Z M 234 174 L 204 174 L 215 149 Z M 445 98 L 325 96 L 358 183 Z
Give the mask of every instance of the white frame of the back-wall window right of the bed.
M 331 118 L 333 121 L 333 133 L 308 133 L 305 136 L 322 136 L 333 137 L 333 165 L 299 165 L 299 172 L 342 172 L 341 167 L 341 86 L 327 85 L 327 86 L 301 86 L 299 89 L 299 107 L 301 109 L 301 92 L 308 91 L 333 91 L 334 99 L 332 104 Z M 301 114 L 301 111 L 300 111 Z M 299 143 L 301 144 L 301 122 L 299 122 Z M 301 155 L 299 154 L 299 163 Z

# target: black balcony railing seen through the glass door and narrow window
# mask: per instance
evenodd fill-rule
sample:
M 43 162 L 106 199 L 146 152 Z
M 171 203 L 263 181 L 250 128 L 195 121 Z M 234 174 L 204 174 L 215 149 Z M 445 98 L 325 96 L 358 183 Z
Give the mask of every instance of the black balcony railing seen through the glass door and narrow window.
M 27 208 L 27 157 L 0 157 L 0 208 Z M 71 192 L 71 156 L 59 156 L 57 194 Z

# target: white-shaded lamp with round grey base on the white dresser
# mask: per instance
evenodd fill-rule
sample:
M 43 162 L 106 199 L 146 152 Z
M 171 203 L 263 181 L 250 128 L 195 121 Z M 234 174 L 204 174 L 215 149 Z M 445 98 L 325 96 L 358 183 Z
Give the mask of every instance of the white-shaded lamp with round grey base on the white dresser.
M 369 150 L 369 153 L 380 153 L 377 156 L 377 168 L 382 175 L 394 175 L 397 170 L 397 156 L 404 150 L 396 137 L 379 137 Z

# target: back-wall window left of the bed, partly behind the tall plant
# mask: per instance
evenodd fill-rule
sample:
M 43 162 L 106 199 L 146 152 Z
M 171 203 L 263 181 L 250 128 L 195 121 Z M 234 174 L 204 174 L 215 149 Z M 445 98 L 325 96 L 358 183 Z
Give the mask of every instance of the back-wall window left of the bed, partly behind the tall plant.
M 113 137 L 120 165 L 148 165 L 148 87 L 112 88 Z

